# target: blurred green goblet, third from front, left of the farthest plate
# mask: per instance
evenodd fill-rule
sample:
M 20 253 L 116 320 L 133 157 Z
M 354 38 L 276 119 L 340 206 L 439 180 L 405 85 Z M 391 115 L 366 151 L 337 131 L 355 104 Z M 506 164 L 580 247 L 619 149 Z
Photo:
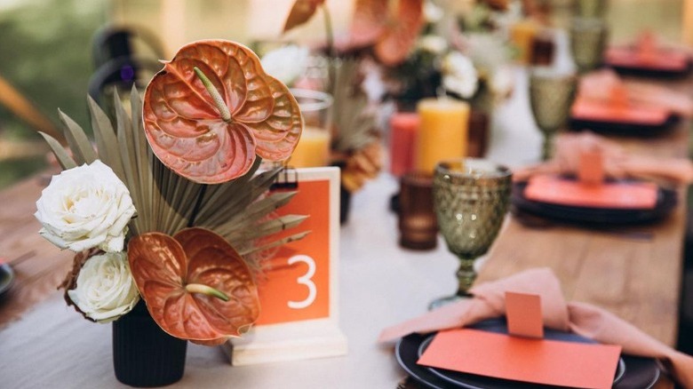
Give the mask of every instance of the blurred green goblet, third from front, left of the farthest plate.
M 597 18 L 575 18 L 570 23 L 570 52 L 580 73 L 601 65 L 607 41 L 607 26 Z

